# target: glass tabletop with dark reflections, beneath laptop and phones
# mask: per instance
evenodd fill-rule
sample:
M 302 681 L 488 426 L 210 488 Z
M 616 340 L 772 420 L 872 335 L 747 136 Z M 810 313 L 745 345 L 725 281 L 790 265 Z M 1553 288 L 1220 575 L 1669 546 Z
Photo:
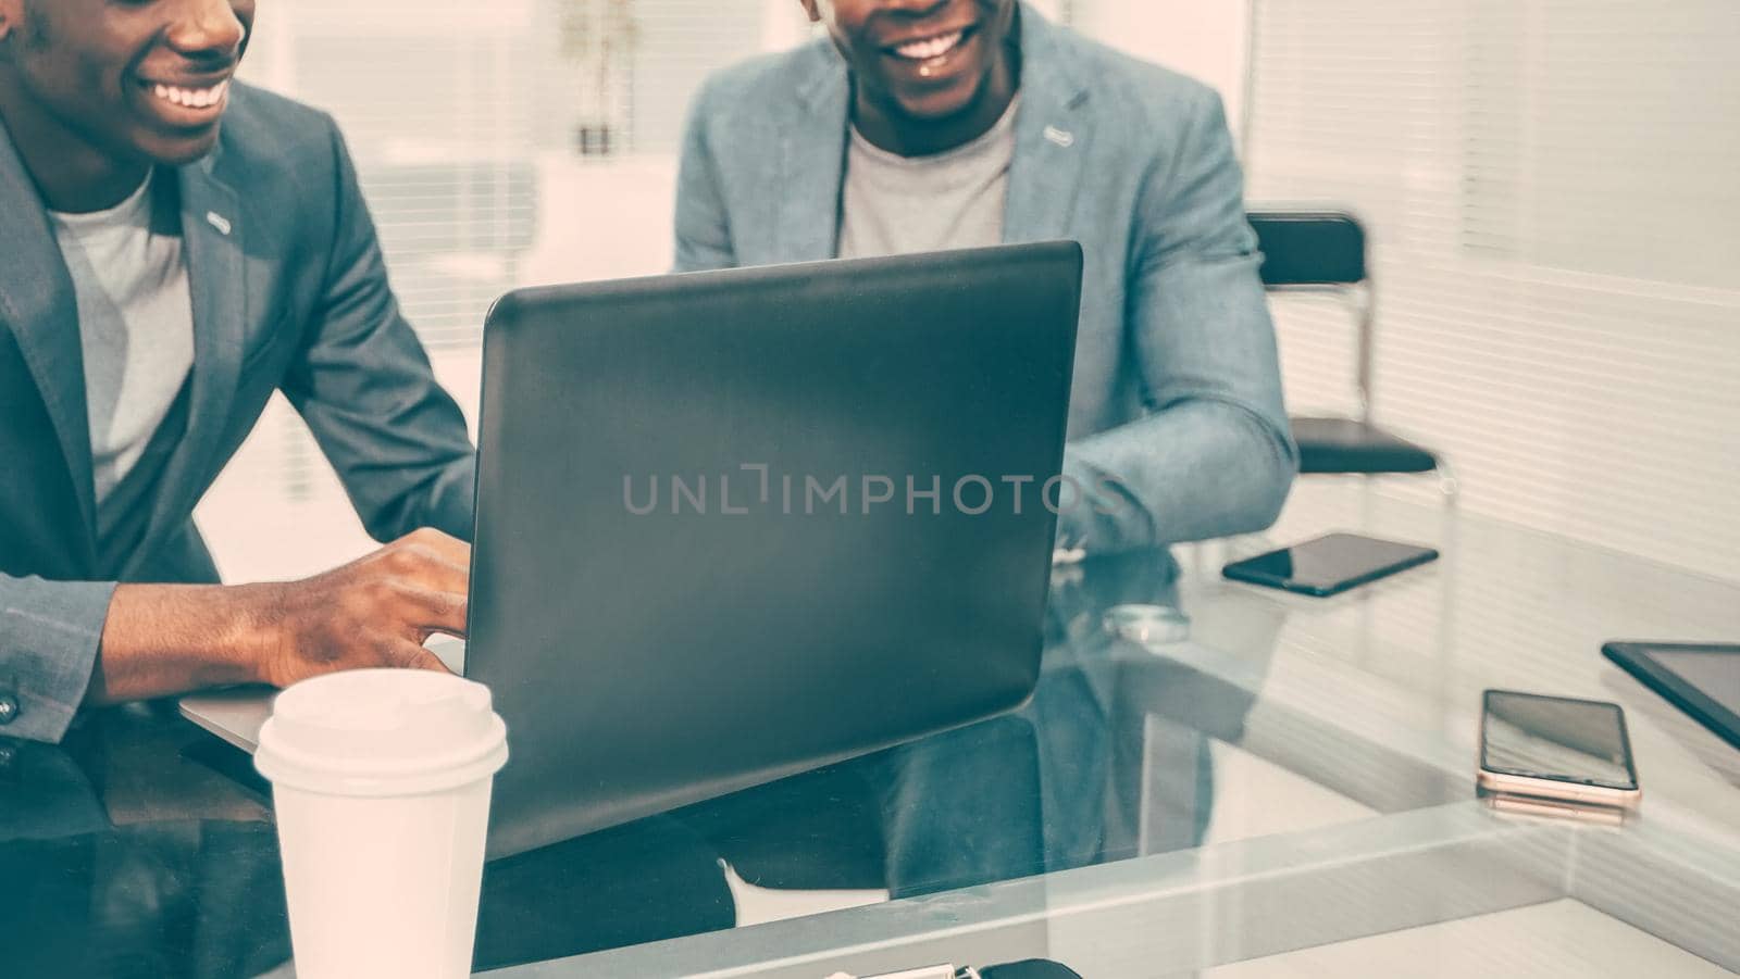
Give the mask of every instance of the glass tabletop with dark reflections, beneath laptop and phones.
M 1329 600 L 1220 579 L 1331 529 L 1444 556 Z M 477 967 L 1740 969 L 1740 751 L 1599 654 L 1740 636 L 1740 586 L 1329 482 L 1260 539 L 1056 570 L 1046 633 L 1020 711 L 491 864 Z M 1618 701 L 1641 817 L 1476 800 L 1486 687 Z M 0 743 L 0 972 L 291 974 L 268 798 L 219 748 L 141 708 Z

